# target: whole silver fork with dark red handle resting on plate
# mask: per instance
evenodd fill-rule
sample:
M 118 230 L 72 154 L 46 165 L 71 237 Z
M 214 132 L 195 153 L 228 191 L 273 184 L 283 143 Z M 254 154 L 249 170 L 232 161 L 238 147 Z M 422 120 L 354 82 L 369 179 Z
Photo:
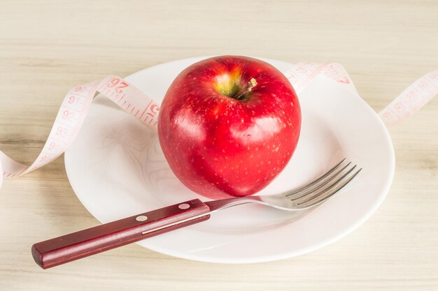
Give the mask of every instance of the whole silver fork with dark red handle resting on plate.
M 41 241 L 32 246 L 31 253 L 40 267 L 48 269 L 206 221 L 216 211 L 241 204 L 257 203 L 286 211 L 310 209 L 339 193 L 362 170 L 356 170 L 356 168 L 357 165 L 347 163 L 344 158 L 325 174 L 292 191 L 276 195 L 234 197 L 208 202 L 193 199 Z

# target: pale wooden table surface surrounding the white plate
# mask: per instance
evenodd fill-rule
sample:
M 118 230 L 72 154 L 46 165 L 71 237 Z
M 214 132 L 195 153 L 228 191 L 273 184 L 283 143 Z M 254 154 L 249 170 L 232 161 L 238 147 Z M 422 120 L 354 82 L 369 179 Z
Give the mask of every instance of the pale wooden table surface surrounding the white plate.
M 2 1 L 0 149 L 31 163 L 64 94 L 176 59 L 243 54 L 343 64 L 381 110 L 438 69 L 437 1 Z M 390 127 L 395 179 L 376 214 L 277 262 L 192 262 L 125 246 L 43 271 L 30 247 L 97 224 L 63 158 L 0 191 L 0 290 L 438 290 L 438 99 Z

